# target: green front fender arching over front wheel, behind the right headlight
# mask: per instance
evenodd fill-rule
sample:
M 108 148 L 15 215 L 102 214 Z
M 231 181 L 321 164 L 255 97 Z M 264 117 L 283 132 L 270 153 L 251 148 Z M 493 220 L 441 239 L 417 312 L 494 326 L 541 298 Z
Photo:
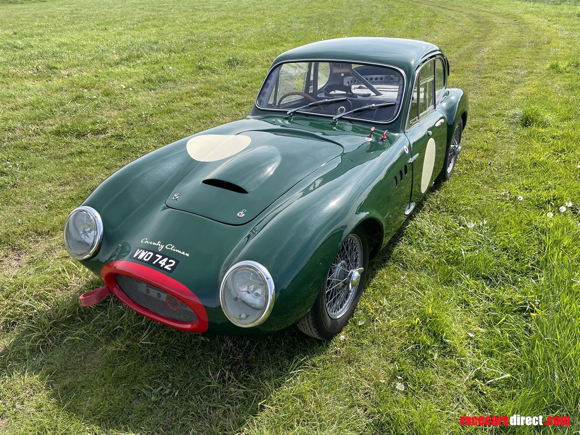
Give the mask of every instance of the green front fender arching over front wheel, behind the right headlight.
M 255 260 L 273 277 L 276 303 L 260 330 L 276 331 L 304 317 L 347 235 L 366 219 L 383 226 L 373 207 L 383 161 L 356 164 L 345 159 L 341 155 L 328 162 L 274 205 L 253 228 L 254 237 L 231 259 Z

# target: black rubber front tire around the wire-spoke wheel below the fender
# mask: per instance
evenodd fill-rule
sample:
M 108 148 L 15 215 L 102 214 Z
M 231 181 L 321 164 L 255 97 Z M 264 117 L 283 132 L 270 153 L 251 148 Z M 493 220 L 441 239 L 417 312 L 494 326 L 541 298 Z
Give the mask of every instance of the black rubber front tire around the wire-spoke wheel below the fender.
M 340 307 L 340 309 L 337 309 L 335 313 L 333 313 L 334 317 L 331 315 L 331 313 L 329 313 L 329 309 L 327 307 L 327 293 L 332 291 L 332 287 L 330 290 L 327 289 L 327 283 L 329 281 L 337 281 L 339 279 L 339 277 L 335 277 L 335 274 L 337 273 L 337 269 L 343 270 L 340 267 L 334 267 L 336 263 L 338 263 L 340 261 L 340 254 L 343 252 L 343 249 L 345 249 L 345 246 L 347 244 L 347 242 L 349 242 L 350 240 L 354 240 L 353 238 L 351 238 L 351 235 L 354 235 L 358 238 L 358 240 L 360 241 L 361 244 L 361 266 L 362 268 L 364 268 L 364 271 L 362 271 L 362 273 L 360 274 L 360 281 L 358 281 L 358 285 L 356 286 L 356 288 L 352 289 L 351 291 L 354 292 L 352 295 L 349 292 L 349 290 L 345 289 L 345 288 L 339 288 L 338 292 L 343 292 L 345 291 L 345 293 L 341 293 L 341 294 L 348 294 L 348 296 L 346 296 L 345 302 L 348 303 L 348 306 L 342 306 Z M 356 244 L 356 241 L 355 241 Z M 324 283 L 322 284 L 322 287 L 320 288 L 320 291 L 318 292 L 318 296 L 316 298 L 316 302 L 314 302 L 313 307 L 310 309 L 310 311 L 308 312 L 308 314 L 306 314 L 306 317 L 304 317 L 302 320 L 300 320 L 298 322 L 298 328 L 300 329 L 300 331 L 302 331 L 303 333 L 305 333 L 306 335 L 310 335 L 311 337 L 320 339 L 320 340 L 328 340 L 331 339 L 333 336 L 335 336 L 336 334 L 338 334 L 340 331 L 342 331 L 342 329 L 346 326 L 346 324 L 349 322 L 350 317 L 353 315 L 354 309 L 356 309 L 357 304 L 358 304 L 358 300 L 360 299 L 361 295 L 362 295 L 362 291 L 364 289 L 364 284 L 365 284 L 365 279 L 367 278 L 367 269 L 368 269 L 368 253 L 369 253 L 369 247 L 368 247 L 368 238 L 367 238 L 367 234 L 365 234 L 365 232 L 362 230 L 361 227 L 357 228 L 356 230 L 354 230 L 351 234 L 349 234 L 349 237 L 346 238 L 345 242 L 343 243 L 342 247 L 340 248 L 339 252 L 336 255 L 335 260 L 333 260 L 333 265 L 330 267 L 330 269 L 327 272 L 327 277 L 324 280 Z M 354 269 L 353 269 L 354 270 Z M 347 274 L 347 277 L 351 277 L 353 270 L 349 271 L 349 273 Z M 340 277 L 340 279 L 342 279 L 342 277 Z M 346 278 L 346 280 L 348 281 L 349 278 Z M 332 300 L 334 300 L 335 298 L 339 297 L 340 295 L 338 295 L 338 293 L 330 293 L 332 295 L 332 299 L 329 302 L 330 305 L 332 305 Z M 342 298 L 342 296 L 340 296 L 340 298 Z M 350 299 L 350 300 L 349 300 Z M 339 317 L 336 317 L 336 316 Z

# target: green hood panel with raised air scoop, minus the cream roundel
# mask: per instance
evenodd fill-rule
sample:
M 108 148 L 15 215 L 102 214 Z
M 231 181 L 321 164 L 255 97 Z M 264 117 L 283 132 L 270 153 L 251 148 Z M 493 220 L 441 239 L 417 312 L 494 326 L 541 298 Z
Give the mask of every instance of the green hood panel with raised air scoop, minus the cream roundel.
M 244 136 L 251 142 L 230 157 L 193 160 L 165 205 L 230 225 L 245 224 L 342 153 L 342 147 L 326 140 L 263 131 L 246 131 Z

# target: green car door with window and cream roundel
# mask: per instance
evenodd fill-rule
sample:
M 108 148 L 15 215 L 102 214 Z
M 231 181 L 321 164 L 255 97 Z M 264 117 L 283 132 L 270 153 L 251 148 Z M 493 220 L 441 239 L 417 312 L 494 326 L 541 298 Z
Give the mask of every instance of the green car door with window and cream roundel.
M 412 211 L 443 168 L 447 147 L 447 122 L 436 107 L 436 59 L 420 66 L 415 74 L 407 131 L 411 150 L 411 201 L 407 214 Z

